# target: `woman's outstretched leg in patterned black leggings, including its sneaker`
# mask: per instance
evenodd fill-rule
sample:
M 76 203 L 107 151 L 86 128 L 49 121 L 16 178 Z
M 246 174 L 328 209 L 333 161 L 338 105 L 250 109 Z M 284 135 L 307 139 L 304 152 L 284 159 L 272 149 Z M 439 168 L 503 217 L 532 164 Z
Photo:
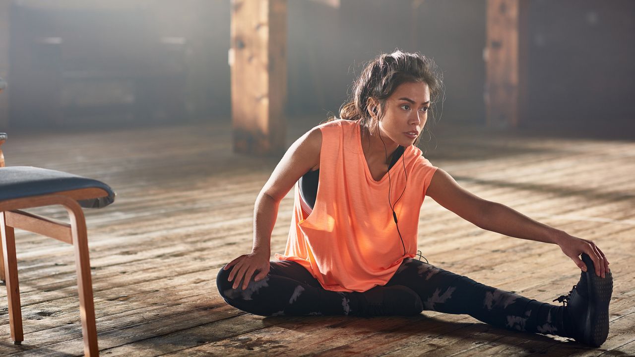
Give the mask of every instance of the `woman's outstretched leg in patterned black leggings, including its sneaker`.
M 516 293 L 477 283 L 430 264 L 405 259 L 386 284 L 408 286 L 419 294 L 427 310 L 469 314 L 497 327 L 573 337 L 598 347 L 608 335 L 608 304 L 613 291 L 610 272 L 605 278 L 595 274 L 591 258 L 582 254 L 587 271 L 568 296 L 568 306 L 555 306 Z

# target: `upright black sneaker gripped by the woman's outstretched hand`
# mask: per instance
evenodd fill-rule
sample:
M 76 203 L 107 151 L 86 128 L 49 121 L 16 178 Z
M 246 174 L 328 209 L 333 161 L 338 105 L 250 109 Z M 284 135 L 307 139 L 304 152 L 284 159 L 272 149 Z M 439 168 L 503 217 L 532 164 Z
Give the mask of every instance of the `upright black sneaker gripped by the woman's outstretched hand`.
M 597 276 L 593 260 L 582 254 L 587 271 L 580 274 L 580 281 L 573 285 L 568 295 L 556 299 L 565 304 L 565 314 L 570 321 L 567 337 L 593 347 L 599 347 L 608 336 L 608 304 L 613 292 L 613 276 L 606 272 L 605 278 Z M 554 300 L 554 301 L 556 301 Z

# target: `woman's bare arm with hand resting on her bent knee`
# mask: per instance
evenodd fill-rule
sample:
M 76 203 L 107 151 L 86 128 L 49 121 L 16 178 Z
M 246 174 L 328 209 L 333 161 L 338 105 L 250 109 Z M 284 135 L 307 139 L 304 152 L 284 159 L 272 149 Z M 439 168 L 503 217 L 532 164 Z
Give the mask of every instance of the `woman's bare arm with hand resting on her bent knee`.
M 280 201 L 302 175 L 309 170 L 319 168 L 321 147 L 322 132 L 319 127 L 302 135 L 289 147 L 267 183 L 260 190 L 253 209 L 253 248 L 251 253 L 237 257 L 223 268 L 227 270 L 233 266 L 227 280 L 234 281 L 234 289 L 242 280 L 244 290 L 255 271 L 258 271 L 255 281 L 263 279 L 269 273 L 271 232 L 276 224 Z

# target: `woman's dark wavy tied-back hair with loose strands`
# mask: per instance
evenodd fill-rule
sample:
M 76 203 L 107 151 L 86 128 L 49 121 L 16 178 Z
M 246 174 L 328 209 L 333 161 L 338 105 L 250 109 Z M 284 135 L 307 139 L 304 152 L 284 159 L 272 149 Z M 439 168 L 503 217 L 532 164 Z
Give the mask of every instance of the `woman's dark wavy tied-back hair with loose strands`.
M 340 119 L 361 119 L 363 130 L 374 133 L 378 121 L 384 116 L 384 107 L 388 97 L 403 83 L 424 82 L 430 90 L 430 109 L 428 115 L 435 121 L 436 103 L 443 98 L 443 74 L 434 60 L 420 53 L 407 53 L 399 50 L 382 53 L 366 64 L 359 77 L 353 82 L 351 97 L 340 107 Z M 379 103 L 377 119 L 368 114 L 368 99 Z M 337 118 L 331 117 L 329 121 Z M 427 125 L 426 125 L 427 126 Z M 418 144 L 419 137 L 415 141 Z

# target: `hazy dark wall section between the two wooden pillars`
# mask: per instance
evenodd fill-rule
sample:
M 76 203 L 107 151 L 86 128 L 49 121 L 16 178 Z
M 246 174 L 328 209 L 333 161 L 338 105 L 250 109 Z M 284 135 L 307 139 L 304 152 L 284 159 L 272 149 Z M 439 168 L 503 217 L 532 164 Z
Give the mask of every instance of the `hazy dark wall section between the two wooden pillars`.
M 288 110 L 336 112 L 363 64 L 396 48 L 434 58 L 443 71 L 443 118 L 482 122 L 485 1 L 342 0 L 340 9 L 289 2 Z

